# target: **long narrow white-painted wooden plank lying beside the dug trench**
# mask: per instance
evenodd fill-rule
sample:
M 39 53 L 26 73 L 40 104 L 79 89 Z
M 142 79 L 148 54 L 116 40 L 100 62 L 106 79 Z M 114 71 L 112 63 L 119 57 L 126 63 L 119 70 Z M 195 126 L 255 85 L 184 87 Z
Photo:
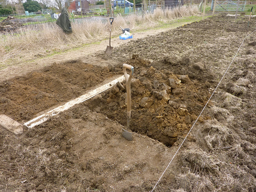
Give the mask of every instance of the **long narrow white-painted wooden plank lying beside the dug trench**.
M 70 107 L 74 106 L 75 104 L 82 103 L 82 102 L 108 90 L 109 88 L 114 86 L 117 82 L 122 82 L 123 80 L 125 80 L 124 75 L 107 83 L 107 84 L 104 84 L 103 86 L 100 86 L 99 88 L 92 90 L 89 93 L 86 93 L 78 98 L 75 98 L 74 100 L 71 100 L 62 106 L 59 106 L 53 110 L 50 110 L 49 112 L 46 112 L 45 114 L 42 114 L 42 115 L 28 121 L 28 122 L 24 123 L 24 125 L 27 126 L 28 128 L 32 128 L 36 125 L 39 125 L 42 122 L 45 122 L 46 120 L 48 120 L 51 116 L 55 116 L 55 115 L 59 114 L 61 111 L 68 110 Z

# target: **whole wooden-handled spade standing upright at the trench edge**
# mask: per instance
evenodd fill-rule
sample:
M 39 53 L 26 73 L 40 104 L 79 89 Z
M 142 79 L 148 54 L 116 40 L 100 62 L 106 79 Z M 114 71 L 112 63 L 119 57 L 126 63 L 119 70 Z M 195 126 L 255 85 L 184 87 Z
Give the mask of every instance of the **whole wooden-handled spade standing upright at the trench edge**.
M 122 128 L 122 136 L 129 141 L 132 141 L 132 133 L 127 130 L 130 127 L 130 119 L 131 119 L 131 79 L 134 71 L 134 67 L 128 64 L 123 64 L 124 68 L 124 76 L 126 79 L 126 92 L 127 92 L 127 128 L 124 130 Z M 126 69 L 131 70 L 130 75 L 127 74 Z

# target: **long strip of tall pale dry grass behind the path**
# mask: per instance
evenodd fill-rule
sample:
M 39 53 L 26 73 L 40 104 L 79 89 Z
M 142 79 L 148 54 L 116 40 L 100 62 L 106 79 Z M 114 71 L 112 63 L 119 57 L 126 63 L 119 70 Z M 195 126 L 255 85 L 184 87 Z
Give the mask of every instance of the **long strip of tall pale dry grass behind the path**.
M 179 14 L 178 14 L 179 13 Z M 131 30 L 154 27 L 159 22 L 168 22 L 181 16 L 191 16 L 198 13 L 197 6 L 181 7 L 180 9 L 156 9 L 153 14 L 144 16 L 130 14 L 127 17 L 117 16 L 113 22 L 112 35 L 120 34 L 120 26 Z M 72 34 L 65 34 L 55 23 L 20 28 L 16 34 L 0 35 L 0 58 L 2 63 L 16 57 L 28 59 L 36 54 L 51 54 L 54 52 L 79 47 L 108 38 L 109 22 L 86 20 L 72 23 Z

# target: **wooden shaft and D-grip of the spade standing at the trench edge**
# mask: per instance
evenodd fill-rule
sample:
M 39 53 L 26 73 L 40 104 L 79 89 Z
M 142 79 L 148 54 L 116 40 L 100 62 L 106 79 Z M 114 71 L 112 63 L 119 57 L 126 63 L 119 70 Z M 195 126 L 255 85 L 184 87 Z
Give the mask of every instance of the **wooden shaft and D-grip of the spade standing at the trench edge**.
M 123 64 L 124 68 L 124 76 L 126 80 L 126 92 L 127 92 L 127 115 L 128 122 L 130 122 L 131 118 L 131 79 L 134 72 L 134 67 L 128 64 Z M 126 69 L 131 70 L 130 75 L 127 74 Z M 128 125 L 127 125 L 128 126 Z

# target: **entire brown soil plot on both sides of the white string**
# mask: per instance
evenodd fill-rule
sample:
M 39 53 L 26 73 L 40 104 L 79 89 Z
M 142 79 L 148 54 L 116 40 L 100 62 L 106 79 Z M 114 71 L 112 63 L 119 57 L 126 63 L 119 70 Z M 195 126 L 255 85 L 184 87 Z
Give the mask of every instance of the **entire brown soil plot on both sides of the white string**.
M 130 40 L 112 56 L 98 51 L 3 80 L 1 113 L 24 123 L 121 76 L 122 64 L 130 64 L 134 140 L 121 134 L 124 81 L 19 136 L 1 128 L 0 190 L 152 190 L 255 30 L 255 18 L 247 24 L 243 16 L 214 16 Z M 156 191 L 256 191 L 254 33 Z

